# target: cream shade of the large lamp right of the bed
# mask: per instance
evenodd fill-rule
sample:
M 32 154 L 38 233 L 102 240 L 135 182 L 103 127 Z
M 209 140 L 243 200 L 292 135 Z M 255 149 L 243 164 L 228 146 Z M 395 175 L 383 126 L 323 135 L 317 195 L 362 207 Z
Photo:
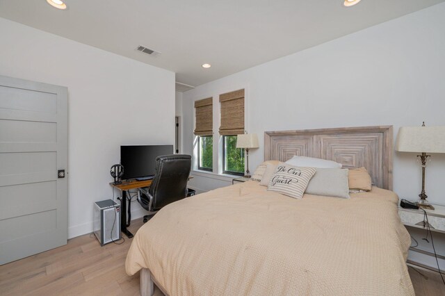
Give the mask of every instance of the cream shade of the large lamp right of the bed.
M 401 127 L 396 151 L 445 153 L 445 126 Z

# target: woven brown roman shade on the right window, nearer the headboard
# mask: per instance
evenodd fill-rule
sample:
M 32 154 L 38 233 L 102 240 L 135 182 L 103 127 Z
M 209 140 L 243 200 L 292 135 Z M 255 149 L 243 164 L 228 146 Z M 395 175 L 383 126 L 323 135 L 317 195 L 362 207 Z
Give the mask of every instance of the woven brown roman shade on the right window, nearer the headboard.
M 220 94 L 220 135 L 244 133 L 244 90 Z

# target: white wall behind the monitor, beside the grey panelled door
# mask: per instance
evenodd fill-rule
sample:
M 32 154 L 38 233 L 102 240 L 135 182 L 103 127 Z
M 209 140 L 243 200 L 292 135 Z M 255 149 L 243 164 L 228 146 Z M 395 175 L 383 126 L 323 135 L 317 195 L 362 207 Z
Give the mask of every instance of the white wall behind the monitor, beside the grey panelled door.
M 68 88 L 70 238 L 91 232 L 93 203 L 113 197 L 120 145 L 174 143 L 174 72 L 0 18 L 0 74 Z

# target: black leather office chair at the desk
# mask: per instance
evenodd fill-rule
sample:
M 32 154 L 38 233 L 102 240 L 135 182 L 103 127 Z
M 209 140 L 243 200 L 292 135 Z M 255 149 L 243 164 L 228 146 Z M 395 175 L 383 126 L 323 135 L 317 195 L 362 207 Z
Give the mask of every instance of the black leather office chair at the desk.
M 163 206 L 186 197 L 191 163 L 191 156 L 185 154 L 156 157 L 156 173 L 152 185 L 138 190 L 139 204 L 147 211 L 157 212 Z M 144 223 L 155 214 L 145 215 Z

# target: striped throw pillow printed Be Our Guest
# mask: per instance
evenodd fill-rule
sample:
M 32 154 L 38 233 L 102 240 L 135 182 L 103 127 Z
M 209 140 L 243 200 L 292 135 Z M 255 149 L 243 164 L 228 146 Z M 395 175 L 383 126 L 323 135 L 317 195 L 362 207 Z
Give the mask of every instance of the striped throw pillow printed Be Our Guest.
M 315 172 L 314 167 L 294 167 L 280 163 L 270 178 L 268 190 L 300 199 Z

